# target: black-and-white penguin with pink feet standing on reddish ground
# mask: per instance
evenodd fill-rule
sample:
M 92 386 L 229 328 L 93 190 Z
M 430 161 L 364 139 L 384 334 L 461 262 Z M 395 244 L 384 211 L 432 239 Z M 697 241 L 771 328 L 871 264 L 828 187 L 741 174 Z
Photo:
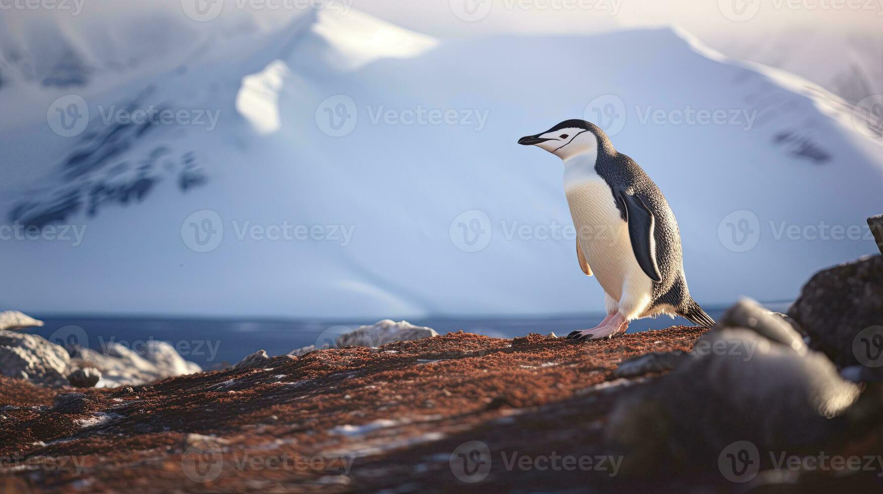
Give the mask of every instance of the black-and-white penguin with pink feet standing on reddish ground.
M 607 317 L 569 339 L 613 338 L 625 333 L 630 321 L 660 314 L 714 326 L 687 289 L 681 233 L 666 198 L 638 163 L 615 150 L 604 131 L 585 120 L 566 120 L 518 144 L 540 147 L 564 162 L 577 261 L 606 294 Z

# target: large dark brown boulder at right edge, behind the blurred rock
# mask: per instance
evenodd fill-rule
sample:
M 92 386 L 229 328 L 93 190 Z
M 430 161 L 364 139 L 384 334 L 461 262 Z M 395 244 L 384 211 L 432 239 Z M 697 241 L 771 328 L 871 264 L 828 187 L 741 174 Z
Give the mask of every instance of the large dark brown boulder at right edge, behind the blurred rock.
M 816 273 L 788 315 L 810 337 L 810 347 L 839 367 L 862 363 L 853 351 L 858 334 L 883 326 L 883 256 Z

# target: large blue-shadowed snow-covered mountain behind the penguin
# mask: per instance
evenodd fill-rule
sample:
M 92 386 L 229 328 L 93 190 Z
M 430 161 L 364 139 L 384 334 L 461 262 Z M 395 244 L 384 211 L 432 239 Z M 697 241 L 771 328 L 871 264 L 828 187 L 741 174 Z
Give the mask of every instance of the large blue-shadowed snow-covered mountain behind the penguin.
M 14 116 L 0 122 L 0 212 L 7 226 L 44 229 L 0 241 L 0 270 L 14 280 L 0 305 L 600 310 L 603 293 L 560 229 L 570 225 L 561 163 L 516 145 L 583 116 L 665 192 L 701 303 L 787 299 L 813 270 L 875 249 L 807 229 L 864 234 L 878 212 L 883 146 L 857 131 L 851 106 L 680 31 L 444 41 L 358 11 L 304 12 L 284 26 L 241 17 L 166 27 L 174 55 L 145 49 L 131 70 L 95 63 L 108 58 L 82 54 L 104 41 L 81 40 L 69 44 L 90 69 L 64 73 L 83 78 L 47 84 L 56 72 L 16 69 L 4 79 L 0 103 Z M 151 35 L 129 33 L 126 46 L 150 46 Z M 175 117 L 119 118 L 147 109 Z M 85 129 L 63 137 L 63 121 Z M 80 241 L 48 239 L 66 225 Z

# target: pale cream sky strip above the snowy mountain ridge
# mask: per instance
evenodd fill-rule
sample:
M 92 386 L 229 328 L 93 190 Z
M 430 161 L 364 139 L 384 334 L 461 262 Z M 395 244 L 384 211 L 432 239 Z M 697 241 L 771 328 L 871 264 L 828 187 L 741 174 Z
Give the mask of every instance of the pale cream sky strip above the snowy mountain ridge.
M 15 4 L 22 0 L 10 0 Z M 183 0 L 190 2 L 191 0 Z M 192 0 L 206 1 L 206 0 Z M 501 33 L 578 34 L 612 26 L 682 26 L 704 41 L 729 35 L 752 35 L 769 29 L 811 28 L 815 31 L 877 33 L 883 0 L 215 0 L 225 11 L 267 11 L 284 20 L 292 6 L 330 4 L 372 13 L 399 26 L 440 37 Z M 63 10 L 4 8 L 18 19 L 53 17 L 78 20 L 120 12 L 168 11 L 182 0 L 121 2 L 65 0 L 77 15 Z M 273 8 L 276 6 L 275 8 Z M 240 8 L 241 7 L 241 8 Z M 455 11 L 474 11 L 471 19 Z M 736 12 L 743 12 L 741 17 Z M 728 17 L 729 16 L 729 17 Z M 736 16 L 734 19 L 733 16 Z

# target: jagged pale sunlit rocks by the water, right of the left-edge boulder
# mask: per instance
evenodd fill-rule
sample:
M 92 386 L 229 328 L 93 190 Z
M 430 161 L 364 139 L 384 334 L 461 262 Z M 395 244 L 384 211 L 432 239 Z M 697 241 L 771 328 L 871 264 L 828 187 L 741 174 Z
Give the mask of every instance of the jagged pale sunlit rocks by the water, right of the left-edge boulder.
M 109 344 L 104 353 L 76 348 L 71 362 L 78 367 L 88 363 L 89 367 L 100 371 L 104 387 L 142 385 L 201 371 L 199 365 L 178 355 L 167 341 L 148 341 L 144 348 L 143 356 L 119 343 Z

